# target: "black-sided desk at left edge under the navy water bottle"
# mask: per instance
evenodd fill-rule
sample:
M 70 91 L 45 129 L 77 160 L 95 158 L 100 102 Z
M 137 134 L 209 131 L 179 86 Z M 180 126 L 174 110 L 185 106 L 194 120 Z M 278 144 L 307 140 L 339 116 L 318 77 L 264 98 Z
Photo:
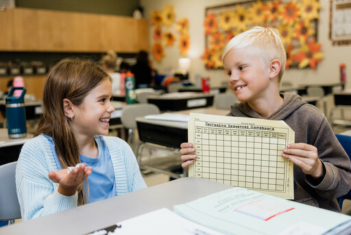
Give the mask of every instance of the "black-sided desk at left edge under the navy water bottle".
M 8 129 L 0 128 L 0 165 L 17 161 L 23 144 L 30 138 L 32 138 L 32 135 L 27 134 L 25 138 L 10 139 Z

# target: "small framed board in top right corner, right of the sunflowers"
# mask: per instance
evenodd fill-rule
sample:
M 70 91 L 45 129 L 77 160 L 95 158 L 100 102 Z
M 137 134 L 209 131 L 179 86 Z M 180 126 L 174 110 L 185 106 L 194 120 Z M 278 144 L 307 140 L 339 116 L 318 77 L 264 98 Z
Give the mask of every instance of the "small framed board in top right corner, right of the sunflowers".
M 330 40 L 333 45 L 351 43 L 351 0 L 330 1 Z

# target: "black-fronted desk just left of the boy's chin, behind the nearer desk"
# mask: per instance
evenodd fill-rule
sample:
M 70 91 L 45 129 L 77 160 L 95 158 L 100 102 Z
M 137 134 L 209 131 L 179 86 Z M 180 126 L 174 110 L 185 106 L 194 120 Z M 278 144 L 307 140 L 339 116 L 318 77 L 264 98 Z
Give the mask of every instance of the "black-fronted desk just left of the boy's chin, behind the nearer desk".
M 160 111 L 180 111 L 212 106 L 214 97 L 211 93 L 173 92 L 148 96 L 147 102 L 156 104 Z

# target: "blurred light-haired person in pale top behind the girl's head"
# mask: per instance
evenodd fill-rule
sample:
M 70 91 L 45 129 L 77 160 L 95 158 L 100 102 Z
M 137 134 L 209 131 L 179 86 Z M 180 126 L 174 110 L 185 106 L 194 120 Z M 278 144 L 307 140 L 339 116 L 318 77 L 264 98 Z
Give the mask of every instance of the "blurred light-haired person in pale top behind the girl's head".
M 112 94 L 120 93 L 121 74 L 116 71 L 117 67 L 117 53 L 109 50 L 101 58 L 101 67 L 112 78 Z

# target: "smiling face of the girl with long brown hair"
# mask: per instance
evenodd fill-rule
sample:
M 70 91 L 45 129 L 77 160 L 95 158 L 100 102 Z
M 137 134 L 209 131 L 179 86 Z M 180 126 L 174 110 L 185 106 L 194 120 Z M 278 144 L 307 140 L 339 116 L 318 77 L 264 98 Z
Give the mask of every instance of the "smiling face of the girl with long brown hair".
M 112 85 L 106 78 L 88 93 L 82 104 L 73 106 L 74 117 L 71 126 L 77 138 L 108 134 L 108 121 L 114 112 L 111 97 Z

